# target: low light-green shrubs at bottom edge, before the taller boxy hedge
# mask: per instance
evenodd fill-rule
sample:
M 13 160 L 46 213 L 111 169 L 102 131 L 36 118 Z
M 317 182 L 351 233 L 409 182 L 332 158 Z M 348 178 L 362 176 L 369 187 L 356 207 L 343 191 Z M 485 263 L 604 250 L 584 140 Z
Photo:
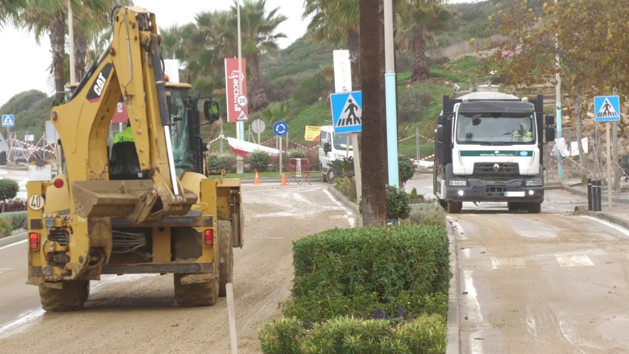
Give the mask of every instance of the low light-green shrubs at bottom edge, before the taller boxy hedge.
M 296 317 L 277 319 L 259 329 L 262 353 L 441 354 L 447 327 L 440 315 L 403 324 L 383 319 L 337 317 L 304 329 Z

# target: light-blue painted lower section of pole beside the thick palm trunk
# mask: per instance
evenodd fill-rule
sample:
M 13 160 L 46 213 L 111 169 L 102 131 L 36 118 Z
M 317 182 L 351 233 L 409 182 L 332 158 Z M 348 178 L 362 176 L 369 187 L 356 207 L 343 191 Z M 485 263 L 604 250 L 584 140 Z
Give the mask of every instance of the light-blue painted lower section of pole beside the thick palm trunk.
M 384 74 L 387 99 L 387 159 L 389 160 L 389 185 L 399 188 L 398 167 L 398 105 L 395 95 L 396 74 Z

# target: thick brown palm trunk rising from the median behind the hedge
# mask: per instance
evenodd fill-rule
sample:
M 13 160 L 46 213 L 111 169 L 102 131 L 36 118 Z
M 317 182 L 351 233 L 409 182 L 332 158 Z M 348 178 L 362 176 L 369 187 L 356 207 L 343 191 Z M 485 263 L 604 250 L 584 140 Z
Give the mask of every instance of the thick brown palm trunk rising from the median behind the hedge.
M 386 127 L 384 55 L 379 0 L 360 1 L 360 72 L 363 92 L 360 167 L 369 178 L 362 182 L 363 226 L 386 226 Z

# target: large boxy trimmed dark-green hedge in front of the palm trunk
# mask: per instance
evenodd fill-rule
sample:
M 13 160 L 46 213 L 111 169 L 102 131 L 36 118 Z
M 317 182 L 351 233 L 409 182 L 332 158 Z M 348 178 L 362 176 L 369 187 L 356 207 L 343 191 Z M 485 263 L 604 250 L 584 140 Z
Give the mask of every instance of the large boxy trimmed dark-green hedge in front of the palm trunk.
M 449 256 L 443 226 L 331 229 L 294 242 L 292 295 L 376 292 L 381 302 L 391 302 L 403 291 L 421 297 L 447 294 Z

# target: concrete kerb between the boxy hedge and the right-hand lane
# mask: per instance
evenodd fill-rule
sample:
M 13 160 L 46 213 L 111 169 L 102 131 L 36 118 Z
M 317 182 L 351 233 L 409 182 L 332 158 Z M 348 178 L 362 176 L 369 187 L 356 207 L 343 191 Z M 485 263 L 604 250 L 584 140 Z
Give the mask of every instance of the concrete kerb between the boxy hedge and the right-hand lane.
M 445 221 L 445 229 L 448 231 L 448 239 L 450 245 L 450 290 L 448 294 L 448 342 L 445 348 L 446 354 L 460 353 L 460 321 L 459 315 L 459 265 L 457 263 L 457 238 L 452 230 L 452 218 L 448 217 Z

